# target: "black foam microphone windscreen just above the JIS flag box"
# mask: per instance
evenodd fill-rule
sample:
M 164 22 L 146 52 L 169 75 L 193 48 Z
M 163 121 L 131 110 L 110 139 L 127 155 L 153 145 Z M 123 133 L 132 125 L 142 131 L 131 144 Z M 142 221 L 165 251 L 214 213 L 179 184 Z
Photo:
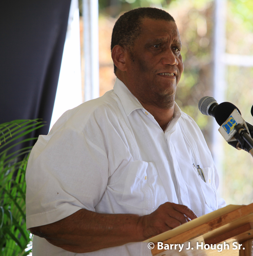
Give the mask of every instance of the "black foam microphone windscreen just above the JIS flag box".
M 231 115 L 231 113 L 234 111 L 234 109 L 237 109 L 238 112 L 241 115 L 240 110 L 232 103 L 230 102 L 222 102 L 220 103 L 215 110 L 215 120 L 216 122 L 221 126 Z

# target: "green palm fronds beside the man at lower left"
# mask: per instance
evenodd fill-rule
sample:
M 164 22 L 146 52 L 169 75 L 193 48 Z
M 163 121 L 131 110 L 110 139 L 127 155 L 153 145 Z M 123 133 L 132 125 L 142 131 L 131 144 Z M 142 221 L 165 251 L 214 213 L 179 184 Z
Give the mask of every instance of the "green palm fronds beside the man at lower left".
M 39 119 L 0 124 L 0 256 L 25 256 L 31 252 L 25 251 L 31 241 L 25 222 L 25 171 L 32 146 L 10 150 L 37 139 L 22 137 L 43 125 Z

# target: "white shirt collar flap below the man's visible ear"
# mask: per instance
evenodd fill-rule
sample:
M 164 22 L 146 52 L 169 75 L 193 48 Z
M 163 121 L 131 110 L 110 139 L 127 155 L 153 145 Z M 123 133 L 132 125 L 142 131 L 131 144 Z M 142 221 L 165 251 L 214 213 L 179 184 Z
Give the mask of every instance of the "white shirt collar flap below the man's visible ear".
M 116 78 L 113 86 L 113 92 L 119 97 L 127 116 L 129 116 L 134 110 L 143 108 L 142 104 L 119 78 Z

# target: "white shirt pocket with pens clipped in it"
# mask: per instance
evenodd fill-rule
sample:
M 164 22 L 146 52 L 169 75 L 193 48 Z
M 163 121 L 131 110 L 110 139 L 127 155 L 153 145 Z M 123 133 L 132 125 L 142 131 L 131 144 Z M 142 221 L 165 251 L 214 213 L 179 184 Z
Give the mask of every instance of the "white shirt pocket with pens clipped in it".
M 202 168 L 206 182 L 204 182 L 199 176 L 200 186 L 205 198 L 205 202 L 211 210 L 215 211 L 218 209 L 218 194 L 215 187 L 214 180 L 214 168 L 206 167 Z

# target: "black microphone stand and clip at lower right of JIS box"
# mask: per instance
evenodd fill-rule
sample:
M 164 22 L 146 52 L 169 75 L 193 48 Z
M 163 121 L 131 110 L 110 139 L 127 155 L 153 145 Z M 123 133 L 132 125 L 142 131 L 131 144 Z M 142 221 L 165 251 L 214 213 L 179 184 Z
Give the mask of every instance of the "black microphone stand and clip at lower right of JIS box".
M 247 130 L 243 127 L 241 124 L 237 124 L 235 126 L 235 129 L 237 133 L 234 135 L 236 140 L 240 143 L 240 148 L 241 149 L 246 149 L 250 153 L 250 155 L 253 157 L 253 140 L 252 138 L 248 135 Z M 248 144 L 248 146 L 245 146 L 245 141 Z

